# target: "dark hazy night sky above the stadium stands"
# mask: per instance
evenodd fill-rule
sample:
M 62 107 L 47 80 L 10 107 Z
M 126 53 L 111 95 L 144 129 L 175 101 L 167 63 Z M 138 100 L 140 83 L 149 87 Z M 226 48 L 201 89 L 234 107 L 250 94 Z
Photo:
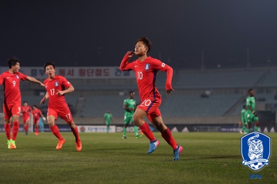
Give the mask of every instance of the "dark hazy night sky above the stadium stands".
M 0 2 L 0 65 L 116 66 L 136 39 L 173 67 L 277 65 L 277 1 Z

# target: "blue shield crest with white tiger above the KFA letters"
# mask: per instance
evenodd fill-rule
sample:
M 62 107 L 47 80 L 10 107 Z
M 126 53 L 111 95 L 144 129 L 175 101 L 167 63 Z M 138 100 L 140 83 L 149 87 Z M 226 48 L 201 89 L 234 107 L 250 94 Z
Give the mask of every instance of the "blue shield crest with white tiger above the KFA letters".
M 252 132 L 241 137 L 242 164 L 254 171 L 269 164 L 270 137 L 260 132 Z

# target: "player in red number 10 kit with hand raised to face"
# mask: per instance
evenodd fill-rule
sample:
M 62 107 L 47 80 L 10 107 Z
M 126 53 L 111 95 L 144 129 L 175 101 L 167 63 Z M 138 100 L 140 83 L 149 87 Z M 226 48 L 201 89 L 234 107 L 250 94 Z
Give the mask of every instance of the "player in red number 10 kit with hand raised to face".
M 173 75 L 172 68 L 161 62 L 160 60 L 147 56 L 147 53 L 151 50 L 152 44 L 146 37 L 141 37 L 136 41 L 135 52 L 128 51 L 122 59 L 120 70 L 135 72 L 138 92 L 140 94 L 141 104 L 137 106 L 133 120 L 135 125 L 141 128 L 142 132 L 150 140 L 150 146 L 148 154 L 155 151 L 160 142 L 155 138 L 153 132 L 150 130 L 149 125 L 144 121 L 144 117 L 147 118 L 155 125 L 155 127 L 162 133 L 162 137 L 173 148 L 173 161 L 179 160 L 183 147 L 177 145 L 170 130 L 163 122 L 159 106 L 161 105 L 161 95 L 156 88 L 155 80 L 157 71 L 167 72 L 166 90 L 169 95 L 174 90 L 171 86 L 171 80 Z M 129 63 L 129 59 L 134 56 L 138 56 L 138 59 Z

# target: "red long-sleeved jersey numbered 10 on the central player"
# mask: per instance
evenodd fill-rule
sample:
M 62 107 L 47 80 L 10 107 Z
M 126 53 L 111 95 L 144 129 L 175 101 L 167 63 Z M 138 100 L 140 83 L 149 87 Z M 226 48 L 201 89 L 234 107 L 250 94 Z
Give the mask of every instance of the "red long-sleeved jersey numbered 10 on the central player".
M 138 87 L 138 93 L 140 94 L 141 100 L 147 97 L 160 96 L 159 91 L 156 88 L 156 75 L 157 71 L 167 71 L 166 90 L 171 89 L 171 80 L 173 70 L 167 64 L 160 60 L 151 58 L 148 56 L 144 61 L 136 59 L 135 61 L 128 63 L 128 55 L 126 54 L 121 62 L 120 70 L 135 72 L 136 83 Z

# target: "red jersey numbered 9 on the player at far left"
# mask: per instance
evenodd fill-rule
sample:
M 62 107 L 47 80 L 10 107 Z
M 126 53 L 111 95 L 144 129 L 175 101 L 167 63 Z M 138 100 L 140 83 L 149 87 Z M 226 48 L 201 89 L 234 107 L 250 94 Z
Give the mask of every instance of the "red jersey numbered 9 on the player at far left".
M 26 80 L 27 76 L 18 72 L 10 74 L 9 71 L 0 75 L 0 85 L 4 86 L 4 103 L 21 102 L 21 93 L 19 89 L 20 80 Z

